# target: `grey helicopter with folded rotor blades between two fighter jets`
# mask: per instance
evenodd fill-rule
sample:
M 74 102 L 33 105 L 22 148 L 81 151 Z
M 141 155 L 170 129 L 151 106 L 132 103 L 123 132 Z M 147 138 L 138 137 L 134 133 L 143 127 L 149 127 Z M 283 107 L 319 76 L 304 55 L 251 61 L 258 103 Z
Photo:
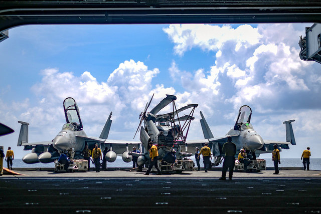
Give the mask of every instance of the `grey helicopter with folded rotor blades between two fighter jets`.
M 174 95 L 166 95 L 166 98 L 158 103 L 150 112 L 147 112 L 152 98 L 153 95 L 150 101 L 146 103 L 144 111 L 139 115 L 140 122 L 135 133 L 136 136 L 140 128 L 139 139 L 142 143 L 143 151 L 148 151 L 148 142 L 152 141 L 158 148 L 159 158 L 163 158 L 170 150 L 175 149 L 177 159 L 180 160 L 181 165 L 174 165 L 173 170 L 182 171 L 191 167 L 193 168 L 193 161 L 185 159 L 185 157 L 191 156 L 192 153 L 183 152 L 182 147 L 185 147 L 185 141 L 191 121 L 195 119 L 193 117 L 194 110 L 198 104 L 189 104 L 177 109 L 175 104 L 177 97 Z M 170 113 L 156 115 L 170 103 L 172 103 L 173 106 L 173 110 Z M 192 108 L 189 115 L 181 117 L 178 115 L 180 112 L 189 108 Z M 144 122 L 144 126 L 141 126 L 142 122 Z M 143 165 L 149 159 L 148 152 L 130 154 L 138 156 L 138 165 Z M 190 163 L 191 161 L 192 163 Z

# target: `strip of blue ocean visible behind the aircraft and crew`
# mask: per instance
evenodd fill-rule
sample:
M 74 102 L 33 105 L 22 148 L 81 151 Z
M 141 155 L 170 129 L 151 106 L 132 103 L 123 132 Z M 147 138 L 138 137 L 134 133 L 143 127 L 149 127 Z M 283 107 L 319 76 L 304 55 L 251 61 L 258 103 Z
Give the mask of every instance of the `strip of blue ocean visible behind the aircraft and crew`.
M 195 157 L 191 157 L 193 161 L 195 161 Z M 266 167 L 274 167 L 273 162 L 271 159 L 266 160 Z M 203 167 L 203 161 L 200 161 L 201 167 Z M 90 164 L 93 166 L 93 164 Z M 4 166 L 7 167 L 7 163 L 4 161 Z M 281 164 L 279 167 L 302 167 L 302 160 L 299 158 L 283 158 L 281 159 Z M 22 159 L 14 159 L 13 160 L 13 167 L 14 168 L 54 168 L 54 163 L 34 163 L 34 164 L 27 164 L 22 161 Z M 126 163 L 122 161 L 121 157 L 117 156 L 117 159 L 109 163 L 107 162 L 107 167 L 132 167 L 132 162 Z M 220 164 L 218 167 L 222 167 Z M 310 158 L 310 169 L 311 170 L 321 170 L 321 158 Z

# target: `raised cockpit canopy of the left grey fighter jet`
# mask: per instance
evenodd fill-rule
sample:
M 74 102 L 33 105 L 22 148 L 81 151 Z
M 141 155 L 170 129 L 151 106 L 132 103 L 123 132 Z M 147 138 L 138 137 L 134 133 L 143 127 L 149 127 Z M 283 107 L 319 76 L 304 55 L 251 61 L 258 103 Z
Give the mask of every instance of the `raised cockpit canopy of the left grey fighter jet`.
M 75 130 L 82 130 L 83 126 L 79 109 L 74 98 L 68 97 L 64 100 L 64 111 L 67 124 L 71 123 L 75 127 Z

